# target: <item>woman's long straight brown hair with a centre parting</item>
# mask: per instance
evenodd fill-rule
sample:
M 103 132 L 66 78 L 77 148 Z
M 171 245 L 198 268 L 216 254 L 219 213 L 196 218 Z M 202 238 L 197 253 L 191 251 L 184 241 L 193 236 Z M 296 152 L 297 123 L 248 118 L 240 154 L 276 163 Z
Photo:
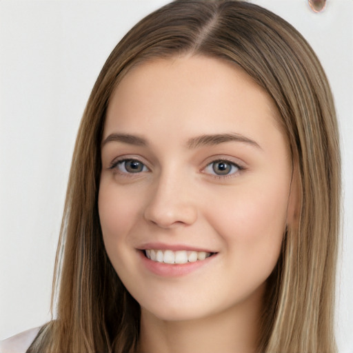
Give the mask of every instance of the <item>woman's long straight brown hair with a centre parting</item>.
M 251 3 L 216 0 L 163 6 L 137 23 L 105 62 L 72 158 L 53 284 L 57 317 L 28 352 L 135 352 L 139 305 L 110 264 L 99 223 L 101 136 L 123 75 L 133 65 L 183 54 L 232 62 L 247 72 L 272 97 L 290 144 L 298 224 L 286 230 L 268 279 L 259 352 L 336 352 L 341 165 L 330 87 L 316 55 L 289 23 Z

